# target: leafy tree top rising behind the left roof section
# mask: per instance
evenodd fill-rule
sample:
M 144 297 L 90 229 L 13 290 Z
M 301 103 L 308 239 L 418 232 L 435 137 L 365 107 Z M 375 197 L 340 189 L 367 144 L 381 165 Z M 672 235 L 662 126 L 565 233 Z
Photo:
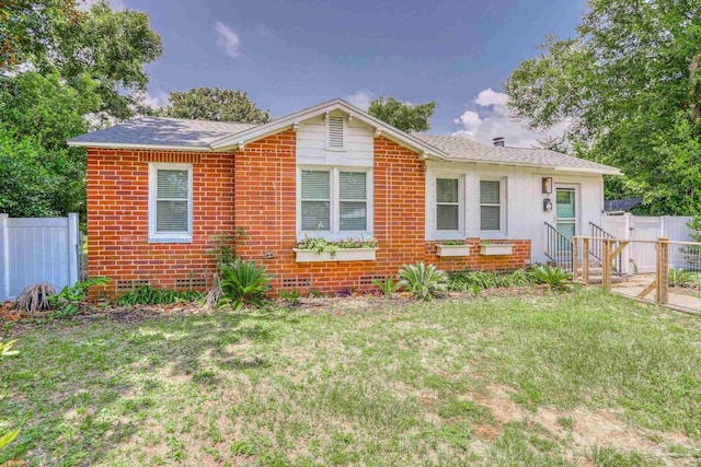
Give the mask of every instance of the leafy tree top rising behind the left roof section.
M 271 120 L 271 112 L 260 109 L 246 93 L 219 87 L 193 87 L 185 92 L 171 92 L 169 105 L 162 109 L 161 115 L 246 124 L 265 124 Z

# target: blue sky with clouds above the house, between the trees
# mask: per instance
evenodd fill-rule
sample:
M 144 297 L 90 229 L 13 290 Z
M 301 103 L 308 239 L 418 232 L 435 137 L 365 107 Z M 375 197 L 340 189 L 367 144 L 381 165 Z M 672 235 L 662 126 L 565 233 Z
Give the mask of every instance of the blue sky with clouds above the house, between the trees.
M 437 101 L 434 133 L 530 141 L 505 115 L 503 83 L 547 34 L 573 33 L 585 0 L 112 0 L 147 11 L 165 51 L 150 96 L 248 91 L 274 117 L 342 97 Z M 493 92 L 485 91 L 493 90 Z M 466 114 L 467 113 L 467 114 Z M 462 119 L 461 119 L 462 117 Z M 515 144 L 516 145 L 516 144 Z

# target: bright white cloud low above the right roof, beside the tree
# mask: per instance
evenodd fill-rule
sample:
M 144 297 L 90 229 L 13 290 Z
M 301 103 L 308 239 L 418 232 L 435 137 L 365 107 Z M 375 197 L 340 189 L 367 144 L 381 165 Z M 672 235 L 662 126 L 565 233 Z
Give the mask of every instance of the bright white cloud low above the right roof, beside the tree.
M 491 144 L 493 138 L 504 137 L 507 147 L 532 148 L 543 138 L 561 137 L 568 127 L 567 122 L 563 122 L 542 132 L 527 129 L 522 122 L 509 118 L 508 96 L 491 87 L 481 91 L 472 103 L 474 109 L 466 110 L 453 120 L 460 126 L 453 135 L 486 144 Z

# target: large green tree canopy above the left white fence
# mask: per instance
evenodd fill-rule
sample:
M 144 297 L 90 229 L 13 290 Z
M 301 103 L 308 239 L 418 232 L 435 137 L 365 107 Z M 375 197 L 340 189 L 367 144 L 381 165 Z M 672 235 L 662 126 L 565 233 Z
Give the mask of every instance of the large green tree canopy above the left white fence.
M 130 116 L 161 54 L 146 13 L 77 4 L 0 0 L 0 212 L 84 213 L 85 150 L 66 140 Z

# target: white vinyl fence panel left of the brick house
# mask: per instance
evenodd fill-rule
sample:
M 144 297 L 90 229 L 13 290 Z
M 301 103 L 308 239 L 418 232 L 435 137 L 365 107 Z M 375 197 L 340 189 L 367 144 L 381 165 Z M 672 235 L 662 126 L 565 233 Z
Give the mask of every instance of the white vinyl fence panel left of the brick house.
M 0 214 L 0 302 L 50 282 L 59 291 L 78 281 L 78 214 L 10 219 Z

